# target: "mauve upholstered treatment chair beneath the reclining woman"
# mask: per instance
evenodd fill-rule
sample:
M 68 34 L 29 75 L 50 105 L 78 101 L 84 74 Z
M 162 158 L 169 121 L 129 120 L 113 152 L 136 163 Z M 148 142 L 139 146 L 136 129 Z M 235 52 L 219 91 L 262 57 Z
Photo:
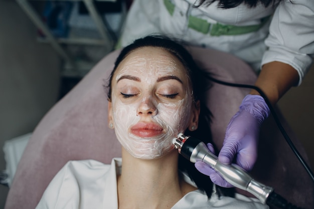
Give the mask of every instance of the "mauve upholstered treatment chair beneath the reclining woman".
M 230 54 L 197 47 L 189 50 L 217 79 L 251 85 L 256 80 L 251 68 Z M 119 50 L 104 57 L 40 121 L 18 165 L 5 209 L 34 209 L 51 179 L 69 160 L 95 159 L 110 163 L 113 157 L 121 155 L 114 131 L 108 128 L 104 88 L 118 54 Z M 212 135 L 218 148 L 222 147 L 230 118 L 248 92 L 249 89 L 216 83 L 206 92 L 207 105 L 213 113 Z M 294 145 L 307 160 L 300 142 L 277 112 Z M 272 116 L 264 122 L 259 142 L 252 176 L 272 186 L 276 193 L 293 204 L 314 208 L 313 182 L 285 142 Z

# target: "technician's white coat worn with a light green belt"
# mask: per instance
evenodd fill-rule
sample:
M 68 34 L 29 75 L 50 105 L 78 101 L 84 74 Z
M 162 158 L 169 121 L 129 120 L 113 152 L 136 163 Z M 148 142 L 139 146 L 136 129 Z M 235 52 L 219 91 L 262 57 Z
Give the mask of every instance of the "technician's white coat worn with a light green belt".
M 165 2 L 174 5 L 173 14 Z M 264 8 L 247 8 L 242 4 L 232 9 L 219 9 L 217 3 L 193 8 L 195 0 L 135 0 L 128 13 L 120 44 L 127 46 L 135 39 L 162 34 L 182 39 L 189 44 L 231 53 L 258 71 L 272 61 L 291 65 L 301 83 L 314 57 L 314 1 L 283 0 Z M 258 31 L 242 35 L 211 36 L 189 28 L 189 17 L 207 23 L 233 26 L 255 26 L 272 16 Z M 269 35 L 269 36 L 268 36 Z M 265 41 L 266 39 L 266 41 Z

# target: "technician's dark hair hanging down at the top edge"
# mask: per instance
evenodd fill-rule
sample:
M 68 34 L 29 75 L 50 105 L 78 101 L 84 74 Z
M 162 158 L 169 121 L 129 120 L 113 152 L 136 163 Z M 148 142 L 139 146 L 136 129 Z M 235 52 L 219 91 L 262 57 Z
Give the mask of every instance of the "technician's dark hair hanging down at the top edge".
M 282 0 L 280 0 L 282 1 Z M 198 8 L 201 6 L 209 6 L 213 4 L 214 2 L 218 2 L 218 7 L 222 9 L 230 9 L 238 7 L 241 4 L 245 4 L 249 8 L 254 8 L 258 4 L 263 5 L 265 8 L 267 8 L 269 5 L 274 5 L 276 0 L 198 0 L 194 4 L 194 8 Z

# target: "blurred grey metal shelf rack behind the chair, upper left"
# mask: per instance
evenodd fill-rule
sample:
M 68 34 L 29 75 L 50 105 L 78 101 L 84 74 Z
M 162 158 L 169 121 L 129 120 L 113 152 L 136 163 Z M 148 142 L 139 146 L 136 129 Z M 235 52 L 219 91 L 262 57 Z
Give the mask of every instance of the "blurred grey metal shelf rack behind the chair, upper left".
M 80 2 L 83 3 L 86 10 L 87 16 L 92 19 L 95 28 L 95 34 L 91 34 L 92 36 L 72 36 L 73 34 L 69 33 L 68 37 L 56 37 L 47 26 L 47 24 L 43 21 L 41 15 L 33 8 L 30 4 L 31 1 L 41 1 L 41 2 Z M 118 33 L 122 28 L 122 23 L 126 17 L 127 9 L 125 0 L 16 0 L 18 5 L 23 9 L 23 11 L 28 15 L 28 17 L 32 20 L 32 22 L 36 25 L 38 30 L 41 33 L 41 37 L 38 37 L 37 40 L 41 43 L 50 44 L 56 52 L 61 56 L 64 60 L 63 66 L 63 74 L 62 76 L 77 76 L 82 77 L 86 75 L 86 73 L 95 65 L 95 62 L 87 62 L 87 61 L 77 61 L 77 58 L 65 48 L 66 46 L 71 45 L 83 45 L 83 46 L 99 46 L 104 47 L 108 51 L 112 51 L 117 42 L 117 36 L 112 32 L 112 27 L 106 20 L 106 18 L 102 17 L 98 10 L 95 7 L 96 2 L 108 2 L 108 3 L 116 3 L 121 4 L 121 19 L 118 24 Z M 83 21 L 77 21 L 77 24 L 85 24 L 87 26 L 91 24 L 83 23 Z M 116 26 L 117 24 L 115 24 Z M 76 29 L 76 32 L 80 32 L 80 30 Z M 89 32 L 88 30 L 84 31 L 84 33 Z M 83 34 L 84 34 L 83 33 Z M 90 34 L 89 34 L 90 35 Z

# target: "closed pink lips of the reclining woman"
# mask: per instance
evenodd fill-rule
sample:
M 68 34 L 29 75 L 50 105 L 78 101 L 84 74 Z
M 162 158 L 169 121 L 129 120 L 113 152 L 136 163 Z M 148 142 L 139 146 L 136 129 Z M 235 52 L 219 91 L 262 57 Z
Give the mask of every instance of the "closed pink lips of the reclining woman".
M 155 123 L 143 123 L 138 122 L 131 127 L 130 132 L 142 138 L 158 136 L 163 133 L 164 129 L 158 124 Z

